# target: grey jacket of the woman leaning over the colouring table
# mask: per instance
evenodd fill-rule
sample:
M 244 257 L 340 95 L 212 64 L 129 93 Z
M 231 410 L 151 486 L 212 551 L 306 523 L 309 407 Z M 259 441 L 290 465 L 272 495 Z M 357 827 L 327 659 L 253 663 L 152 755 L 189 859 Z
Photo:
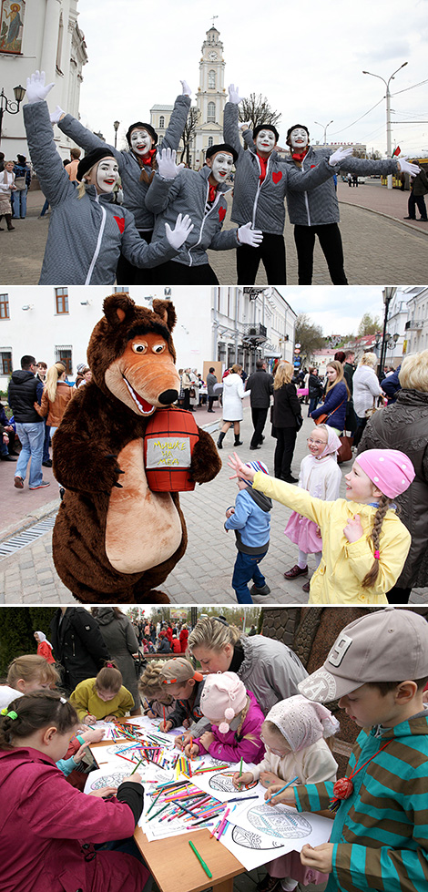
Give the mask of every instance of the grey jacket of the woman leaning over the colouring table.
M 244 660 L 237 675 L 247 691 L 254 694 L 265 715 L 275 703 L 299 693 L 297 686 L 307 678 L 308 672 L 286 644 L 264 635 L 244 636 L 239 643 L 244 650 Z M 193 737 L 199 737 L 207 725 L 207 719 L 192 725 Z

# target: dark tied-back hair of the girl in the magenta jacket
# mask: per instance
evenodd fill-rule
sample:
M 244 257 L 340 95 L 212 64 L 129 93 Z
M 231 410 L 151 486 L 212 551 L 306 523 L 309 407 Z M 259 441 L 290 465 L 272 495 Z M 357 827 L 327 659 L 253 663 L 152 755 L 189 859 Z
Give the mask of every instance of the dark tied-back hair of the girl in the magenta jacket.
M 56 691 L 26 693 L 0 713 L 0 750 L 19 746 L 20 740 L 41 728 L 55 725 L 58 733 L 65 734 L 77 723 L 76 710 Z

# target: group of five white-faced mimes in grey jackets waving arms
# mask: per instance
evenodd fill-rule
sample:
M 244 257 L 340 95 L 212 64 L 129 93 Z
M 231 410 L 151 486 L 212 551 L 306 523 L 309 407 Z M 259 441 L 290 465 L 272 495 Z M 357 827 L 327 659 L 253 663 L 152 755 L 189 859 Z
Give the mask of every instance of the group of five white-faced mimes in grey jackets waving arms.
M 27 145 L 46 196 L 42 215 L 49 204 L 53 211 L 40 283 L 218 284 L 209 264 L 211 249 L 235 251 L 239 284 L 255 282 L 260 262 L 270 284 L 286 284 L 287 202 L 299 284 L 311 284 L 316 239 L 331 282 L 347 284 L 338 226 L 338 172 L 350 171 L 354 178 L 416 176 L 419 166 L 406 157 L 368 160 L 351 157 L 352 149 L 313 149 L 309 129 L 302 124 L 288 128 L 287 149 L 281 149 L 273 124 L 260 123 L 253 130 L 249 123 L 239 124 L 242 97 L 231 84 L 224 141 L 206 149 L 199 170 L 191 169 L 176 163 L 191 95 L 189 84 L 181 84 L 161 142 L 151 124 L 136 121 L 127 128 L 127 149 L 117 150 L 59 106 L 49 113 L 46 98 L 54 84 L 45 84 L 43 72 L 27 78 Z M 79 147 L 72 150 L 66 170 L 56 150 L 53 124 Z M 80 149 L 86 153 L 83 157 Z M 0 188 L 8 195 L 15 190 L 9 179 L 5 169 Z M 224 229 L 231 190 L 230 216 L 236 225 Z

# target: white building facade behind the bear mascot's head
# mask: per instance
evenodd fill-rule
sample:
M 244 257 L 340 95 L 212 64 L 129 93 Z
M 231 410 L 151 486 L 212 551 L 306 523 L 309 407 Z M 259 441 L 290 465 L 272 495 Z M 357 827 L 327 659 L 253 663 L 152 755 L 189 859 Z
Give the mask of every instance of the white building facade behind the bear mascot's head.
M 185 286 L 154 288 L 151 293 L 143 285 L 129 289 L 140 306 L 150 306 L 155 297 L 174 303 L 177 324 L 172 336 L 178 368 L 202 373 L 207 364 L 225 368 L 240 362 L 250 372 L 265 356 L 291 361 L 297 317 L 276 289 L 205 286 L 194 291 L 189 297 Z M 62 360 L 73 380 L 77 365 L 87 362 L 87 343 L 103 315 L 107 293 L 97 285 L 1 289 L 0 390 L 7 391 L 10 374 L 20 368 L 25 354 L 48 366 Z

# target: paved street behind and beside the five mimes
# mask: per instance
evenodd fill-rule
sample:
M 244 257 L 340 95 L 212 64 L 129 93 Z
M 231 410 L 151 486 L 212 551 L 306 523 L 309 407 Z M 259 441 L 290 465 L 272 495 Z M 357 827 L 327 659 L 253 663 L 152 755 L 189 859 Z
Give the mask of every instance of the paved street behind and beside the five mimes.
M 420 285 L 428 279 L 428 223 L 403 220 L 407 214 L 408 192 L 386 190 L 380 180 L 368 180 L 358 189 L 338 183 L 341 210 L 341 236 L 345 271 L 354 285 Z M 28 215 L 15 220 L 15 231 L 2 233 L 2 281 L 7 284 L 36 284 L 45 251 L 49 214 L 38 219 L 43 196 L 28 193 Z M 230 210 L 231 200 L 229 200 Z M 234 226 L 229 213 L 227 228 Z M 297 284 L 297 260 L 293 227 L 285 226 L 287 278 Z M 236 284 L 234 251 L 209 251 L 209 261 L 220 284 Z M 260 266 L 256 284 L 266 284 Z M 318 242 L 314 254 L 313 284 L 331 284 L 327 265 Z M 4 286 L 3 286 L 4 287 Z

